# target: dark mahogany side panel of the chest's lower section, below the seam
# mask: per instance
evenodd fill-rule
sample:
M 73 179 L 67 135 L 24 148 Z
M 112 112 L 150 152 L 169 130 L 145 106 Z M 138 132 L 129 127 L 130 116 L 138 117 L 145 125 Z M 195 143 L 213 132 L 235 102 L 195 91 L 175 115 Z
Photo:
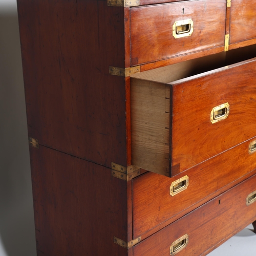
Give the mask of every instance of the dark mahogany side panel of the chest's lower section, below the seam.
M 30 148 L 37 255 L 116 255 L 127 250 L 127 186 L 111 169 Z

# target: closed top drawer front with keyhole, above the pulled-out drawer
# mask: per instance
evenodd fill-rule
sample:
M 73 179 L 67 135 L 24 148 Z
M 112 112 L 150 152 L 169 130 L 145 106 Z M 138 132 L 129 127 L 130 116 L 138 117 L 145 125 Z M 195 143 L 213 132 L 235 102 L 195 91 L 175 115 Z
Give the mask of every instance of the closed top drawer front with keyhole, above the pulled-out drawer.
M 131 66 L 224 47 L 225 19 L 224 0 L 131 8 Z M 184 20 L 192 20 L 193 25 Z

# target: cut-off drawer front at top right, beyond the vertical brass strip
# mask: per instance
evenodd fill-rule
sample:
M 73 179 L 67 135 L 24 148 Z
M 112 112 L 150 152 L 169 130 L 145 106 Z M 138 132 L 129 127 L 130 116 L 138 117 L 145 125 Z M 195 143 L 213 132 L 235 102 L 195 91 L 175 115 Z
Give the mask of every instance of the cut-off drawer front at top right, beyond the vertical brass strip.
M 231 1 L 230 44 L 256 37 L 255 4 L 249 0 Z

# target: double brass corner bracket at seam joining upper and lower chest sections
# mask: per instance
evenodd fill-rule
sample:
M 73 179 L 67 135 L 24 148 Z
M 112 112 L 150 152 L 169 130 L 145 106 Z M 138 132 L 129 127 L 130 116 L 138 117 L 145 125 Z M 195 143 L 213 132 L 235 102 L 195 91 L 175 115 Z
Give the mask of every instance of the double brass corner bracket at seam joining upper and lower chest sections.
M 130 181 L 133 178 L 140 175 L 140 168 L 135 165 L 130 166 L 122 166 L 120 164 L 111 163 L 111 175 L 115 178 L 124 180 L 124 181 Z

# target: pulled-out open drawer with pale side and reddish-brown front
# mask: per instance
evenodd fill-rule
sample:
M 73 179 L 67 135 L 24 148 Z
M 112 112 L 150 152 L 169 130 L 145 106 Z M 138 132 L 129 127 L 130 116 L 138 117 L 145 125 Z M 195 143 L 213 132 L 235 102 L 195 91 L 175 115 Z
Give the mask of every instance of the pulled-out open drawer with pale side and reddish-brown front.
M 254 137 L 255 63 L 168 84 L 133 78 L 133 164 L 175 176 Z

